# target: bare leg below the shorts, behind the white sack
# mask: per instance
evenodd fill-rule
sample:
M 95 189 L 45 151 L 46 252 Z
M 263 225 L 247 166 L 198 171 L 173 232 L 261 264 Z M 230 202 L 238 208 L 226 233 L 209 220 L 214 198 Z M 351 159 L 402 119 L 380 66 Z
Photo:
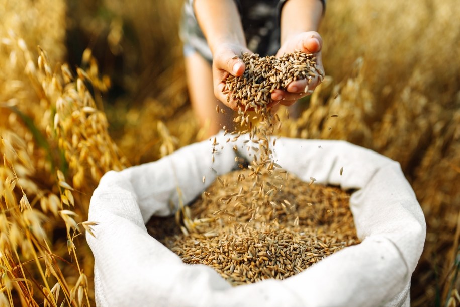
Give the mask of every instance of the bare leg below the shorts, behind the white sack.
M 202 138 L 206 139 L 216 134 L 223 126 L 233 131 L 233 111 L 214 96 L 211 65 L 198 52 L 188 54 L 185 64 L 192 108 L 200 127 L 204 130 Z M 217 113 L 217 105 L 225 110 L 226 114 Z

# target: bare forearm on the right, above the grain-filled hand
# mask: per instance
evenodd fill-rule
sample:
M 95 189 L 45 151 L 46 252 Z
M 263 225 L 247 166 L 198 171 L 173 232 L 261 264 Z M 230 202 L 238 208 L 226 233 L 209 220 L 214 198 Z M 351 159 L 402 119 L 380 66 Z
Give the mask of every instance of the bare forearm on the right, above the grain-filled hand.
M 317 31 L 323 13 L 320 0 L 288 0 L 281 11 L 281 44 L 292 36 Z

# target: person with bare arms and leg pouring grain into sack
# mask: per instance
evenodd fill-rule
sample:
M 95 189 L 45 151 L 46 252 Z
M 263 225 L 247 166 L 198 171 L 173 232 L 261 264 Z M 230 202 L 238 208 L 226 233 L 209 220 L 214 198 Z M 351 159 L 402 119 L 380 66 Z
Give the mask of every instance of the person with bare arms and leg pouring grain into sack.
M 189 97 L 204 138 L 223 126 L 232 126 L 236 102 L 222 93 L 228 74 L 245 70 L 244 52 L 261 56 L 300 50 L 321 60 L 322 38 L 317 32 L 325 0 L 186 0 L 180 25 Z M 324 70 L 323 70 L 324 71 Z M 321 81 L 316 78 L 291 82 L 285 91 L 271 93 L 271 106 L 291 106 L 311 94 Z M 216 105 L 226 112 L 216 112 Z

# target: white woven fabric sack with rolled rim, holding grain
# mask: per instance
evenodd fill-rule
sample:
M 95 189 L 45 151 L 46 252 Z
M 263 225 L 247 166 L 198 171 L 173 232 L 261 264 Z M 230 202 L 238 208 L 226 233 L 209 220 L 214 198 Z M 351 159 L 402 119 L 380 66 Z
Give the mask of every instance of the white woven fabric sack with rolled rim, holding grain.
M 220 144 L 226 144 L 222 133 Z M 250 158 L 238 140 L 241 152 Z M 274 159 L 305 181 L 356 189 L 350 198 L 362 242 L 283 281 L 232 287 L 205 265 L 188 265 L 149 236 L 144 223 L 169 215 L 235 167 L 234 143 L 215 154 L 204 141 L 158 161 L 104 175 L 86 234 L 95 257 L 98 306 L 409 306 L 410 278 L 426 224 L 399 164 L 345 141 L 280 138 Z M 340 168 L 343 174 L 340 175 Z M 206 182 L 202 177 L 206 176 Z M 171 203 L 174 208 L 171 208 Z

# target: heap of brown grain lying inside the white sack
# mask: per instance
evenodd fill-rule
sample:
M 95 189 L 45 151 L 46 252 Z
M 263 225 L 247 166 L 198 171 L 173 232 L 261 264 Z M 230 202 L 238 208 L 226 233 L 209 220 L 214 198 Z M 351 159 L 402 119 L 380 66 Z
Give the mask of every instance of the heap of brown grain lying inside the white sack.
M 287 173 L 283 189 L 274 184 L 262 199 L 252 195 L 250 181 L 238 182 L 248 172 L 222 176 L 190 206 L 189 234 L 180 232 L 173 217 L 152 218 L 149 233 L 183 262 L 211 266 L 232 285 L 284 279 L 358 243 L 343 190 Z

